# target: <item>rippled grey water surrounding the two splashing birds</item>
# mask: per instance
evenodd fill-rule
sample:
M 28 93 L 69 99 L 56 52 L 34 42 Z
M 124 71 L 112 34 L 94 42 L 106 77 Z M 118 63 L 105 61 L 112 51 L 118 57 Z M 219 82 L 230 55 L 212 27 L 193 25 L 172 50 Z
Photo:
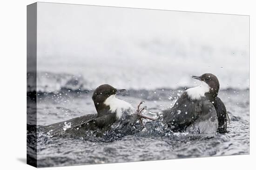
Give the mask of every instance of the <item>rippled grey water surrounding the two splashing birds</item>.
M 118 98 L 130 102 L 134 107 L 143 100 L 148 111 L 157 112 L 172 107 L 183 91 L 183 88 L 128 90 L 126 94 L 118 96 Z M 92 92 L 87 90 L 68 91 L 65 89 L 55 94 L 40 93 L 38 125 L 45 126 L 81 115 L 96 113 L 91 96 Z M 249 89 L 221 90 L 219 97 L 229 112 L 229 133 L 217 133 L 216 137 L 209 139 L 188 133 L 168 133 L 157 124 L 159 122 L 151 122 L 153 126 L 149 125 L 139 133 L 115 140 L 40 136 L 37 144 L 38 166 L 249 154 Z

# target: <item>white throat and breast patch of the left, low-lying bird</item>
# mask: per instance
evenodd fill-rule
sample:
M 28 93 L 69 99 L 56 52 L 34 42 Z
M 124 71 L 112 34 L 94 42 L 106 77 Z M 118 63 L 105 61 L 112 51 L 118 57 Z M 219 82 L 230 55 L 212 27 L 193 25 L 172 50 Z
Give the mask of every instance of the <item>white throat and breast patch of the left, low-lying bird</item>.
M 122 114 L 126 111 L 126 110 L 132 110 L 134 111 L 134 107 L 132 107 L 132 105 L 126 101 L 122 101 L 120 99 L 117 99 L 115 97 L 115 94 L 112 94 L 111 96 L 109 96 L 106 101 L 104 101 L 104 104 L 110 107 L 110 111 L 112 112 L 116 112 L 116 118 L 120 119 Z

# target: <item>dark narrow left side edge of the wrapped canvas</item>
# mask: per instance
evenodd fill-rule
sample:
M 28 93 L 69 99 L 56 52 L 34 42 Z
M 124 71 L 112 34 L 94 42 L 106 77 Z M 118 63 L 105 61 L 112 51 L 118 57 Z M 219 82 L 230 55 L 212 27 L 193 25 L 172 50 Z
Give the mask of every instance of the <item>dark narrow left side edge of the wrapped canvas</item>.
M 37 3 L 27 6 L 27 164 L 37 167 Z M 28 135 L 28 132 L 30 134 Z

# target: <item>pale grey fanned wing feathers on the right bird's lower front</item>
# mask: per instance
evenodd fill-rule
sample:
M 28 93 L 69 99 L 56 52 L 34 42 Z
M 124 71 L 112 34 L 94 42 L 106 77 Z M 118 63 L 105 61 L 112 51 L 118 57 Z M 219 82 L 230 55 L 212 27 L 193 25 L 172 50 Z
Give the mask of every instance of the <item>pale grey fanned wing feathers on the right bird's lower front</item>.
M 218 128 L 218 118 L 215 107 L 209 101 L 204 101 L 202 113 L 187 128 L 187 132 L 199 132 L 209 135 L 215 135 Z

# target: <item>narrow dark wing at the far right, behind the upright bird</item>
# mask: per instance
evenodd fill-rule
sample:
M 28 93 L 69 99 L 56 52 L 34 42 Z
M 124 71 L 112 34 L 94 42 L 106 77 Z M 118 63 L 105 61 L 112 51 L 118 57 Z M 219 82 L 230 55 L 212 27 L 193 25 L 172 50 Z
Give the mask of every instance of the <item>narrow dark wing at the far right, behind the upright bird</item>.
M 218 132 L 225 133 L 227 132 L 227 116 L 228 116 L 226 107 L 219 97 L 216 97 L 214 106 L 215 106 L 218 121 L 219 121 Z

